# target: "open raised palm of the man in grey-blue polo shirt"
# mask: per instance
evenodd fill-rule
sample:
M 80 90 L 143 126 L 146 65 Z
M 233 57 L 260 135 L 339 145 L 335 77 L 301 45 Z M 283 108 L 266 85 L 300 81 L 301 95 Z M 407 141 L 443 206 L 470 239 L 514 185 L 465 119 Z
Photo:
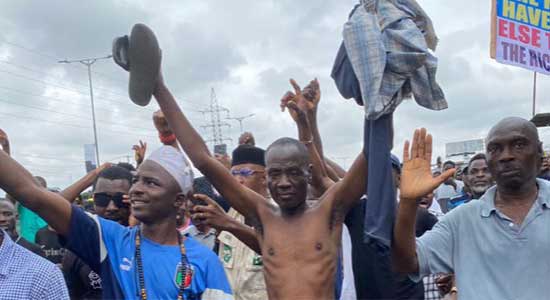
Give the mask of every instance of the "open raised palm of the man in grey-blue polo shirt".
M 432 136 L 427 134 L 425 128 L 414 131 L 410 152 L 409 147 L 410 143 L 406 141 L 399 193 L 402 201 L 416 202 L 453 176 L 455 169 L 447 170 L 437 177 L 432 176 Z

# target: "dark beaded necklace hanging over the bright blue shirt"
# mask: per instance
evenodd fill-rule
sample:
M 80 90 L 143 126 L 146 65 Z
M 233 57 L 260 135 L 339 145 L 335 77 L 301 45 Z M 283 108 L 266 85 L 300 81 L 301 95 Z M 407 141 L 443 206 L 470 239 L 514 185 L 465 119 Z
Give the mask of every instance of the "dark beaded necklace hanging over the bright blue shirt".
M 187 260 L 187 254 L 185 251 L 185 245 L 183 244 L 181 234 L 178 232 L 178 244 L 180 246 L 181 253 L 181 283 L 179 284 L 178 297 L 177 300 L 183 300 L 183 293 L 185 288 L 191 285 L 191 279 L 193 271 Z M 147 290 L 145 289 L 145 276 L 143 275 L 143 264 L 141 261 L 141 229 L 138 229 L 136 233 L 136 260 L 137 260 L 137 271 L 139 277 L 139 296 L 142 300 L 147 300 Z

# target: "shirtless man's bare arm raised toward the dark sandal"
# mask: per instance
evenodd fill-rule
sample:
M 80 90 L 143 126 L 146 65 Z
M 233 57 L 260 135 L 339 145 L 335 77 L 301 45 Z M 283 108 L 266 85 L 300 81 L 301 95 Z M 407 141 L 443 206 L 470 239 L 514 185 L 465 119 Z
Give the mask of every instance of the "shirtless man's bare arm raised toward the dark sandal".
M 159 77 L 154 93 L 155 98 L 185 153 L 232 207 L 245 217 L 256 218 L 258 205 L 266 203 L 263 201 L 264 198 L 242 186 L 220 162 L 212 157 L 203 139 L 181 112 L 176 100 L 164 84 L 162 75 Z

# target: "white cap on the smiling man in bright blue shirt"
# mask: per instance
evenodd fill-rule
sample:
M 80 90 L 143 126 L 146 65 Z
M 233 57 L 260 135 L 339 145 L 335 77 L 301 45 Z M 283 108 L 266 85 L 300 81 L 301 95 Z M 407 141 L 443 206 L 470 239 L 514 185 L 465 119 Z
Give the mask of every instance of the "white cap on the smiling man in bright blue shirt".
M 187 194 L 193 189 L 193 169 L 182 152 L 172 146 L 162 146 L 155 150 L 147 160 L 163 167 L 178 183 L 182 193 Z

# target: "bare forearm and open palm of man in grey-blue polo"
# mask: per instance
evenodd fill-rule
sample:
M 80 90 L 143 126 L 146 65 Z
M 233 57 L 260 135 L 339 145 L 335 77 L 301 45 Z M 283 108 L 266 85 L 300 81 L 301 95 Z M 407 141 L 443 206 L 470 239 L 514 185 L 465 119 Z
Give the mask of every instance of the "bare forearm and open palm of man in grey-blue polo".
M 439 177 L 432 177 L 432 136 L 426 129 L 416 130 L 409 152 L 409 141 L 403 150 L 400 202 L 397 220 L 393 229 L 392 262 L 398 272 L 416 273 L 419 270 L 416 256 L 415 223 L 417 199 L 429 194 L 447 178 L 454 169 Z

